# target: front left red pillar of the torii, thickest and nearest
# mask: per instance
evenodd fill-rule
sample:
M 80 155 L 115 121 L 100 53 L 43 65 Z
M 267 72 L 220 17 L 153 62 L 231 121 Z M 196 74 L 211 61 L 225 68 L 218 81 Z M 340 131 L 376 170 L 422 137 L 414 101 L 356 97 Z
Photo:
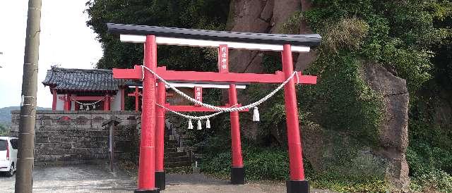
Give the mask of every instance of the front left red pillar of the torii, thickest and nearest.
M 155 36 L 147 35 L 144 44 L 144 66 L 157 69 L 157 44 Z M 138 189 L 135 192 L 160 192 L 155 187 L 155 77 L 144 71 L 143 108 L 141 109 L 140 160 L 138 166 Z

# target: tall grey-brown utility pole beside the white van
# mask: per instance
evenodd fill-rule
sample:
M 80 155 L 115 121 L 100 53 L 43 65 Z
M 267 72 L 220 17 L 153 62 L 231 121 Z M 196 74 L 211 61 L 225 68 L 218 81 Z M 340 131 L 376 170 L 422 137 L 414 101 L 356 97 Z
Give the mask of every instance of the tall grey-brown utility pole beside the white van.
M 41 0 L 29 0 L 25 56 L 23 57 L 16 193 L 32 192 L 32 174 L 35 161 L 37 63 L 39 61 L 40 21 Z

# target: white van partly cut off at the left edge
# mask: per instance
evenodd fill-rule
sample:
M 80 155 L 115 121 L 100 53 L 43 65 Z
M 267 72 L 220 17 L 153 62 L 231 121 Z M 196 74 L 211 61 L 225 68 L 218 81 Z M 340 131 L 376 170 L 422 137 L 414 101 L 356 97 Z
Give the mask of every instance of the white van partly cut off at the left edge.
M 8 177 L 16 172 L 18 138 L 0 137 L 0 172 Z

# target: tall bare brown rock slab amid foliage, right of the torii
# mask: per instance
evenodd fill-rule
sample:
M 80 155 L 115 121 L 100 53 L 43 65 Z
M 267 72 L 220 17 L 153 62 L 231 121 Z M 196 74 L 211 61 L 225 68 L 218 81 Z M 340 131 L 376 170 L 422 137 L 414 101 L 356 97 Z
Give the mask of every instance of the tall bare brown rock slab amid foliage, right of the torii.
M 380 128 L 379 154 L 388 160 L 386 178 L 395 187 L 410 183 L 405 151 L 408 147 L 408 89 L 406 81 L 378 65 L 364 66 L 364 80 L 383 95 L 384 118 Z

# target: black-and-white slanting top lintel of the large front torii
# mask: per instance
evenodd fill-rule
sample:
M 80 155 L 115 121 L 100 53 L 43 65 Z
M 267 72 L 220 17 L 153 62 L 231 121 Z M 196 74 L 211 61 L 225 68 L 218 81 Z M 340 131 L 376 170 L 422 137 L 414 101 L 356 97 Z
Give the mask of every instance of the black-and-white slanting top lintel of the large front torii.
M 157 44 L 177 46 L 218 47 L 227 44 L 230 49 L 282 51 L 284 44 L 292 45 L 292 51 L 307 52 L 319 46 L 321 36 L 283 35 L 251 32 L 225 32 L 194 30 L 177 27 L 157 27 L 147 25 L 124 25 L 107 23 L 109 32 L 121 34 L 121 42 L 143 43 L 145 35 L 155 35 Z

